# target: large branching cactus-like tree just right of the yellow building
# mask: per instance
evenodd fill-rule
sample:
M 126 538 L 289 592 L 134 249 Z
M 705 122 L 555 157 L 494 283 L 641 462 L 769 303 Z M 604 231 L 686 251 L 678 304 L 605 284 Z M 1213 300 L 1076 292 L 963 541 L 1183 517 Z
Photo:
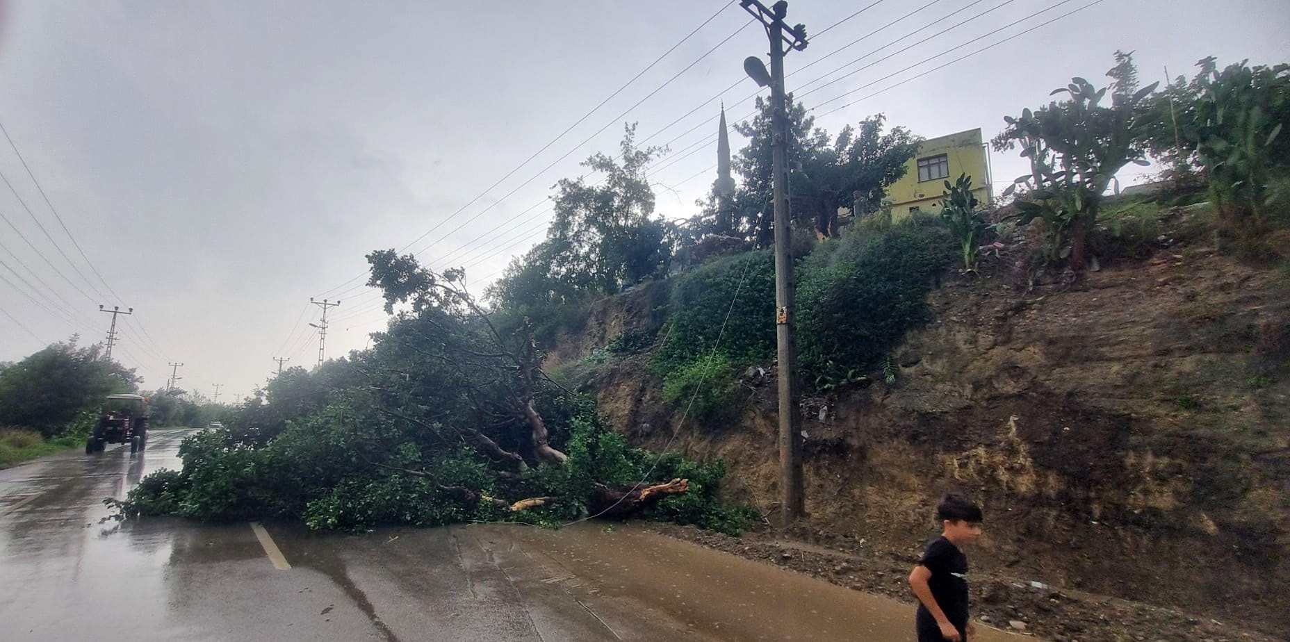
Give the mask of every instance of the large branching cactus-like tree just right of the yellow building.
M 1118 79 L 1129 83 L 1134 76 L 1121 68 Z M 1087 235 L 1111 179 L 1130 162 L 1148 164 L 1140 134 L 1155 116 L 1143 99 L 1157 85 L 1134 93 L 1112 85 L 1112 104 L 1104 106 L 1107 88 L 1096 89 L 1073 77 L 1069 85 L 1053 90 L 1053 95 L 1067 94 L 1067 99 L 1035 111 L 1026 108 L 1017 117 L 1005 116 L 1007 128 L 992 141 L 996 151 L 1020 146 L 1031 173 L 1018 178 L 1004 196 L 1026 186 L 1029 200 L 1015 204 L 1022 223 L 1044 218 L 1057 242 L 1069 244 L 1075 269 L 1082 269 L 1089 260 Z

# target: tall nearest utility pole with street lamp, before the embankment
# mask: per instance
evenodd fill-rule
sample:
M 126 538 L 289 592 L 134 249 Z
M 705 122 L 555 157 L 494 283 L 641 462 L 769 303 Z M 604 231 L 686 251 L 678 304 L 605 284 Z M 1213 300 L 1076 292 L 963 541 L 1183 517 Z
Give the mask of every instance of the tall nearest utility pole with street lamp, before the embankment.
M 802 437 L 797 409 L 797 321 L 793 311 L 792 228 L 788 215 L 787 156 L 788 113 L 784 92 L 784 54 L 806 49 L 806 26 L 787 26 L 788 3 L 766 9 L 759 0 L 740 0 L 739 6 L 761 21 L 770 37 L 770 73 L 757 57 L 743 62 L 759 85 L 770 85 L 771 173 L 775 205 L 775 347 L 779 358 L 779 513 L 783 526 L 805 513 L 802 491 Z M 787 49 L 786 49 L 787 46 Z

